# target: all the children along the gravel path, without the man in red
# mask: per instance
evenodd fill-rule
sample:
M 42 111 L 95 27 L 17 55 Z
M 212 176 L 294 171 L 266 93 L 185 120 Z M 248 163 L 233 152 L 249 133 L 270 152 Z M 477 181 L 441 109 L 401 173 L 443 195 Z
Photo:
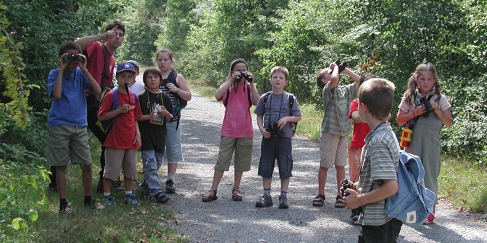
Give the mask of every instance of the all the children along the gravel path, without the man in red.
M 116 28 L 116 27 L 115 27 Z M 111 29 L 113 31 L 115 28 Z M 115 205 L 111 196 L 111 181 L 117 179 L 122 168 L 125 183 L 125 203 L 138 206 L 132 192 L 136 178 L 137 151 L 141 151 L 143 180 L 141 198 L 166 203 L 158 169 L 163 158 L 168 158 L 166 192 L 175 192 L 177 162 L 183 161 L 181 148 L 181 110 L 191 99 L 184 77 L 173 67 L 173 53 L 163 49 L 157 53 L 158 67 L 148 67 L 143 73 L 143 88 L 136 87 L 138 63 L 134 60 L 118 65 L 118 87 L 107 92 L 97 113 L 99 121 L 112 120 L 106 132 L 105 168 L 103 173 L 103 202 Z M 49 110 L 48 162 L 56 167 L 56 182 L 60 197 L 60 211 L 72 212 L 65 194 L 65 169 L 71 160 L 80 164 L 83 178 L 85 205 L 102 209 L 103 205 L 91 198 L 91 159 L 86 132 L 87 119 L 85 90 L 100 94 L 100 84 L 88 72 L 88 60 L 75 42 L 65 42 L 59 49 L 59 67 L 49 73 L 49 95 L 53 98 Z M 354 83 L 339 86 L 340 74 L 350 76 Z M 211 189 L 202 201 L 218 199 L 217 189 L 224 171 L 230 169 L 234 155 L 234 186 L 232 199 L 242 201 L 239 190 L 242 174 L 250 170 L 253 150 L 253 126 L 250 108 L 256 106 L 257 126 L 262 134 L 261 157 L 258 175 L 262 176 L 263 195 L 256 207 L 273 206 L 271 183 L 275 162 L 278 163 L 281 192 L 279 208 L 288 208 L 287 190 L 292 177 L 292 137 L 295 123 L 301 120 L 296 97 L 284 91 L 289 71 L 273 67 L 269 83 L 272 90 L 259 96 L 252 73 L 245 60 L 231 62 L 226 81 L 216 90 L 215 97 L 225 105 L 221 128 L 218 160 L 214 167 Z M 360 215 L 352 215 L 354 224 L 362 225 L 359 242 L 394 242 L 401 229 L 401 221 L 385 214 L 385 199 L 397 192 L 399 149 L 394 138 L 379 131 L 389 131 L 388 123 L 394 99 L 395 86 L 373 74 L 358 76 L 348 68 L 332 62 L 317 74 L 321 87 L 325 115 L 319 138 L 320 166 L 318 195 L 313 206 L 323 206 L 328 169 L 337 171 L 336 208 L 359 208 Z M 134 86 L 135 85 L 135 86 Z M 102 85 L 103 87 L 103 85 Z M 138 90 L 137 90 L 138 89 Z M 136 90 L 131 92 L 131 90 Z M 436 67 L 431 63 L 417 66 L 409 78 L 408 90 L 399 105 L 397 124 L 414 126 L 410 146 L 406 151 L 419 156 L 426 171 L 425 184 L 438 193 L 440 172 L 440 131 L 443 125 L 452 124 L 451 105 L 440 93 Z M 355 99 L 355 98 L 358 99 Z M 431 101 L 426 104 L 427 101 Z M 115 103 L 115 104 L 113 104 Z M 81 108 L 72 109 L 72 107 Z M 349 183 L 342 196 L 340 187 L 345 179 L 348 135 L 353 137 L 349 146 Z M 425 223 L 431 223 L 433 213 Z M 382 231 L 386 234 L 378 234 Z

